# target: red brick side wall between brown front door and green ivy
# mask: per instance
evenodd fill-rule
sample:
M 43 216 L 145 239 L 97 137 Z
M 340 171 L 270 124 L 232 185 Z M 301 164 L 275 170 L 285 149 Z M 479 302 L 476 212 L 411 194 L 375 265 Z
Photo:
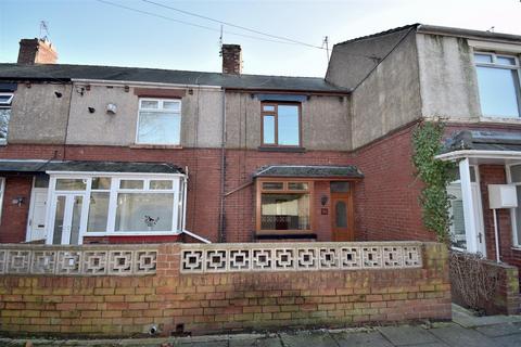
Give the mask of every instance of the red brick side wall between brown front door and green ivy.
M 364 180 L 355 188 L 357 240 L 434 241 L 421 221 L 421 181 L 411 163 L 416 124 L 354 153 Z

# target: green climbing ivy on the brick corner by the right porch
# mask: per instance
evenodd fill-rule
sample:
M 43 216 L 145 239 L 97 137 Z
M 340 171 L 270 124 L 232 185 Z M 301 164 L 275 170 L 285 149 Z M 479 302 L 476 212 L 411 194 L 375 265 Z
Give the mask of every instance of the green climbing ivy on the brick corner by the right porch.
M 444 124 L 441 121 L 422 123 L 412 133 L 412 163 L 416 176 L 424 187 L 419 196 L 422 219 L 425 228 L 435 232 L 440 242 L 450 241 L 450 207 L 447 184 L 454 177 L 454 163 L 435 159 L 442 150 Z

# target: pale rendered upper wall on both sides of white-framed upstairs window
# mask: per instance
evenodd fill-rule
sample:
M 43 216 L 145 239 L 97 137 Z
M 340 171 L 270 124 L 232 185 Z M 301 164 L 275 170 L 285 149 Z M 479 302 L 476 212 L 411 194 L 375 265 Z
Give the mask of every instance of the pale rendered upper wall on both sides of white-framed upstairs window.
M 135 145 L 138 101 L 134 88 L 126 92 L 122 86 L 91 86 L 84 95 L 74 92 L 67 144 Z M 181 146 L 220 146 L 220 90 L 194 88 L 181 102 Z M 117 105 L 116 115 L 106 114 L 109 103 Z M 96 112 L 89 113 L 89 107 Z

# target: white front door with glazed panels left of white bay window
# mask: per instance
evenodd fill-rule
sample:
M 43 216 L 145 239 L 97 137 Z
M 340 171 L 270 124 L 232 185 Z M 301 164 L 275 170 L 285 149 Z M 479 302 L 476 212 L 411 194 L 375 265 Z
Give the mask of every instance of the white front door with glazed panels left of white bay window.
M 84 209 L 82 194 L 55 194 L 52 206 L 52 244 L 77 245 L 81 243 L 80 226 Z

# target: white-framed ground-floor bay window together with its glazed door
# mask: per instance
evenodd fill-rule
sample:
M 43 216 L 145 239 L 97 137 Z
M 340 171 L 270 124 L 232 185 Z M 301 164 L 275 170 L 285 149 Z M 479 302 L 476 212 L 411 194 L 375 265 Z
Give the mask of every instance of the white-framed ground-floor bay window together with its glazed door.
M 181 174 L 51 174 L 52 203 L 48 216 L 50 228 L 54 230 L 52 241 L 75 242 L 73 235 L 80 239 L 181 232 L 185 229 L 185 179 Z

